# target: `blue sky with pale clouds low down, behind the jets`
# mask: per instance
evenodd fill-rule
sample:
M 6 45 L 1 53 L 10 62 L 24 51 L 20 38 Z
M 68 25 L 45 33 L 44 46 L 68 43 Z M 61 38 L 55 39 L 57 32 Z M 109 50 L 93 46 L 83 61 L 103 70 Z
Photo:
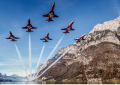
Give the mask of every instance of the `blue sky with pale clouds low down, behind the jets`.
M 59 18 L 53 18 L 53 22 L 47 22 L 45 21 L 47 18 L 42 17 L 42 14 L 50 11 L 53 2 L 55 2 L 55 14 Z M 60 48 L 73 44 L 75 38 L 88 34 L 96 24 L 103 24 L 105 21 L 119 17 L 119 4 L 119 0 L 1 0 L 0 72 L 7 75 L 26 76 L 14 43 L 5 39 L 9 37 L 9 31 L 11 31 L 16 37 L 20 37 L 16 44 L 29 73 L 29 33 L 21 28 L 27 25 L 29 17 L 31 24 L 37 27 L 31 33 L 32 70 L 34 71 L 44 44 L 40 38 L 45 37 L 49 32 L 50 38 L 53 39 L 45 45 L 40 63 L 42 64 L 63 36 L 61 28 L 67 27 L 75 20 L 73 24 L 75 31 L 64 36 L 51 58 Z

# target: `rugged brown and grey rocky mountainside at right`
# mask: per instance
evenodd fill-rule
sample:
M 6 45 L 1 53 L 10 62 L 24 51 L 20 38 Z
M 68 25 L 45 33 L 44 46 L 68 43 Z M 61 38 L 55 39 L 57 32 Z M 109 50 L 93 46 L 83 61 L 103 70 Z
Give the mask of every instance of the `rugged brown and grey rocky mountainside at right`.
M 89 80 L 120 78 L 120 17 L 97 24 L 85 37 L 42 77 L 54 80 Z M 60 49 L 45 68 L 71 45 Z M 45 69 L 44 68 L 44 69 Z M 43 70 L 44 70 L 43 69 Z

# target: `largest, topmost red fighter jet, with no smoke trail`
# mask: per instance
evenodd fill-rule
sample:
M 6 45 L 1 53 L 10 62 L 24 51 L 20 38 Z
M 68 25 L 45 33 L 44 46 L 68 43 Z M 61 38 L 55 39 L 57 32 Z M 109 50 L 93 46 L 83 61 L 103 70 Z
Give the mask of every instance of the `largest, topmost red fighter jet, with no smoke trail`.
M 52 17 L 58 17 L 58 16 L 55 15 L 55 13 L 54 13 L 54 7 L 55 7 L 55 2 L 53 3 L 52 8 L 51 8 L 51 10 L 49 11 L 49 13 L 43 15 L 43 17 L 48 17 L 48 19 L 45 20 L 45 21 L 50 22 L 50 21 L 53 21 L 53 20 L 52 20 Z

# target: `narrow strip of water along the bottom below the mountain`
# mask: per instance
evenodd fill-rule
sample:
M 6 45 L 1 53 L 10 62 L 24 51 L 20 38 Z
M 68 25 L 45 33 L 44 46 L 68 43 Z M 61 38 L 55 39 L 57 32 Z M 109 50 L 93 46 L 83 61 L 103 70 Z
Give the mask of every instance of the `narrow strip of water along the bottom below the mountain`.
M 120 85 L 120 82 L 0 82 L 0 85 Z

